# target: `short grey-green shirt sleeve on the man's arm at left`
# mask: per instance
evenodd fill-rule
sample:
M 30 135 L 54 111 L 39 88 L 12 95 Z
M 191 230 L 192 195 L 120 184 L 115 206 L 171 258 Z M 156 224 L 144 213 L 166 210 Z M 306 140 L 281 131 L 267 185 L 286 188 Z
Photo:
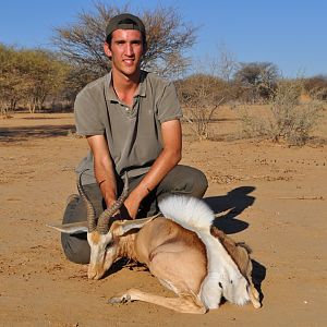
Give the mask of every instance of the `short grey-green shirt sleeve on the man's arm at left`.
M 105 126 L 99 119 L 98 102 L 89 94 L 88 89 L 83 89 L 75 99 L 74 116 L 76 133 L 80 135 L 101 135 Z

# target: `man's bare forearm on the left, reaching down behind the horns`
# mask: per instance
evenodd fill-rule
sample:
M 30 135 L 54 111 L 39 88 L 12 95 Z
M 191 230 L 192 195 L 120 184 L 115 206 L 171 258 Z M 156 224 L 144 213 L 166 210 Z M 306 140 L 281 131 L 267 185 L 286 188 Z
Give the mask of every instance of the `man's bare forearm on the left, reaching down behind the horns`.
M 87 136 L 87 142 L 94 156 L 95 178 L 109 207 L 117 199 L 117 182 L 108 144 L 104 135 Z

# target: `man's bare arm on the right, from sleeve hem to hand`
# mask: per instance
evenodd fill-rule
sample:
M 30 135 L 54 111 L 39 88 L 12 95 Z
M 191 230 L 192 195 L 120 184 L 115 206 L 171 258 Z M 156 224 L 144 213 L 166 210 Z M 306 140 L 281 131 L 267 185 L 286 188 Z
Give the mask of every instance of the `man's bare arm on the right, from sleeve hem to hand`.
M 140 184 L 131 192 L 124 205 L 135 219 L 140 204 L 154 190 L 182 157 L 182 129 L 179 120 L 161 124 L 164 149 Z

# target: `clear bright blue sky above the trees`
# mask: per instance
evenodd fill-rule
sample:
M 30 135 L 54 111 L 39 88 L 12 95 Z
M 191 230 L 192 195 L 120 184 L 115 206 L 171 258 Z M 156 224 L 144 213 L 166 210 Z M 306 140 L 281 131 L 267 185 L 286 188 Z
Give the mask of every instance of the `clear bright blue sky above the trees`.
M 284 76 L 327 75 L 326 0 L 134 0 L 130 4 L 132 12 L 173 5 L 185 22 L 198 26 L 191 50 L 194 59 L 217 58 L 225 44 L 238 61 L 272 62 Z M 93 8 L 93 0 L 0 0 L 0 43 L 51 47 L 53 27 L 73 23 L 77 12 Z

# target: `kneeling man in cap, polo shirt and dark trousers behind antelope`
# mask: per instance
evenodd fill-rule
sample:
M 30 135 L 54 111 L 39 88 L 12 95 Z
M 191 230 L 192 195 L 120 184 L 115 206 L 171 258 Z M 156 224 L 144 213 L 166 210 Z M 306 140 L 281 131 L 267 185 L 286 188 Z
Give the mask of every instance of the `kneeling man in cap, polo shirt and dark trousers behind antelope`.
M 202 197 L 207 189 L 197 169 L 178 165 L 182 153 L 182 117 L 174 86 L 141 70 L 146 51 L 143 22 L 132 14 L 120 14 L 106 28 L 105 53 L 111 72 L 94 81 L 77 95 L 77 133 L 90 148 L 76 171 L 99 215 L 120 194 L 124 172 L 130 193 L 121 209 L 122 218 L 155 215 L 158 201 L 170 193 Z M 63 222 L 86 220 L 86 208 L 78 196 L 69 199 Z M 89 261 L 86 235 L 62 234 L 66 257 L 75 263 Z

